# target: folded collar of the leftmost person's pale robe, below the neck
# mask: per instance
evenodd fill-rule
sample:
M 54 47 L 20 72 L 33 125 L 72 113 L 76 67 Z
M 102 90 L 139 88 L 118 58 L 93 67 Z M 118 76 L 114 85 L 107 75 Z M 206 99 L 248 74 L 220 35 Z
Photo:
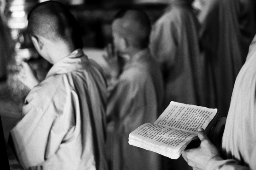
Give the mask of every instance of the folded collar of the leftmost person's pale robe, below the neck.
M 84 54 L 82 49 L 76 49 L 67 57 L 55 63 L 46 75 L 46 78 L 56 75 L 64 74 L 83 67 L 84 62 L 89 62 L 88 57 Z

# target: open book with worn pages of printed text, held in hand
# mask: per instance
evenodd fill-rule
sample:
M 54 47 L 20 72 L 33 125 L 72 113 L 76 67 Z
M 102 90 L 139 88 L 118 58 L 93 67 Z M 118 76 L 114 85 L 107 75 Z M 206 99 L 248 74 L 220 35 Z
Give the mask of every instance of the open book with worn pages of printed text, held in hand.
M 129 134 L 129 144 L 178 159 L 186 146 L 198 138 L 202 127 L 208 133 L 218 119 L 218 110 L 171 101 L 155 121 Z

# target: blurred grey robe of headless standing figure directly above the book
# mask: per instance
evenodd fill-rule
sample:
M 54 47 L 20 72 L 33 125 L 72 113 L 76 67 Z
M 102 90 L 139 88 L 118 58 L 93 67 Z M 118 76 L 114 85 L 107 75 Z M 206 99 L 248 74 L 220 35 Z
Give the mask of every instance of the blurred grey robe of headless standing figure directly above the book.
M 162 67 L 165 107 L 170 101 L 211 106 L 211 95 L 207 91 L 210 86 L 203 85 L 210 82 L 205 77 L 198 31 L 190 0 L 172 0 L 153 26 L 150 52 Z

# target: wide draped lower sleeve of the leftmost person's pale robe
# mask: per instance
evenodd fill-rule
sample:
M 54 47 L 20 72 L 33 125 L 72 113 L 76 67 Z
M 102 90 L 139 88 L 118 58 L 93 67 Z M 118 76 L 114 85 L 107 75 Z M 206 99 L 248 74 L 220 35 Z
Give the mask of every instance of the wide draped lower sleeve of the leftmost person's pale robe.
M 64 124 L 68 120 L 59 120 L 54 112 L 30 103 L 24 105 L 24 117 L 10 132 L 14 152 L 24 168 L 42 164 L 60 146 L 67 132 Z

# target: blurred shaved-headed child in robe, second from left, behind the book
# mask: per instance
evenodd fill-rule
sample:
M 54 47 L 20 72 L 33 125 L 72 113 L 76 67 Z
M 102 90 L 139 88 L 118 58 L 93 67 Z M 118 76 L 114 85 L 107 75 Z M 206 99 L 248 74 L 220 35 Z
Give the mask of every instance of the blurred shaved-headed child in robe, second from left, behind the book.
M 158 64 L 148 51 L 148 16 L 139 10 L 121 10 L 112 23 L 117 54 L 124 57 L 121 74 L 110 86 L 107 117 L 114 122 L 113 170 L 158 170 L 159 155 L 130 146 L 130 132 L 156 121 L 162 112 L 163 82 Z M 111 55 L 111 54 L 110 54 Z M 111 62 L 118 61 L 118 58 Z M 116 69 L 117 72 L 120 69 Z

